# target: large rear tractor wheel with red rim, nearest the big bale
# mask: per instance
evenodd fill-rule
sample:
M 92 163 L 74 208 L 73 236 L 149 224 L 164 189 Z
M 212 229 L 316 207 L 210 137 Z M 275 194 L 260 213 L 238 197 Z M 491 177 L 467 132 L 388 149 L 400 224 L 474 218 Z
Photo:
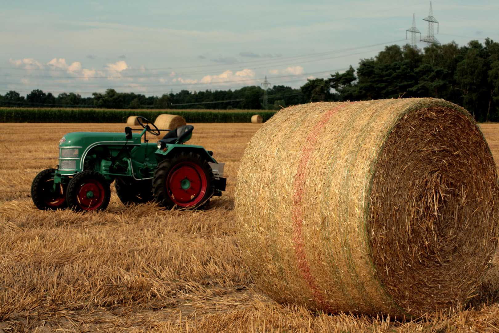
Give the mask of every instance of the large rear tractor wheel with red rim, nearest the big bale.
M 158 164 L 153 178 L 154 198 L 167 209 L 202 209 L 213 196 L 214 179 L 212 168 L 204 158 L 193 152 L 182 152 Z

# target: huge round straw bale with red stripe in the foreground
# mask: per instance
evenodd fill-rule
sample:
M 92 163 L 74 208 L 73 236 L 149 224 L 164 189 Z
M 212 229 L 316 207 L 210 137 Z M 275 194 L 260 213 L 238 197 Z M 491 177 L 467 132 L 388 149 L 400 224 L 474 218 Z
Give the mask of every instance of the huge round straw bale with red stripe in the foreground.
M 497 246 L 499 186 L 470 114 L 432 98 L 288 107 L 251 139 L 242 254 L 280 303 L 418 316 L 459 306 Z

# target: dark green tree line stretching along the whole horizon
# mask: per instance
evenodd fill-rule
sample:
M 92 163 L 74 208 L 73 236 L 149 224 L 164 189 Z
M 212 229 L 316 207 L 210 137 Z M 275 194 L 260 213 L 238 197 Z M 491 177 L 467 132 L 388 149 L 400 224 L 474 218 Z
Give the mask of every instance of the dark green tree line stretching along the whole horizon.
M 307 79 L 300 89 L 274 85 L 267 90 L 269 110 L 316 101 L 435 97 L 462 105 L 477 121 L 499 121 L 499 43 L 486 38 L 466 46 L 455 42 L 431 44 L 423 51 L 409 44 L 386 46 L 374 58 L 360 59 L 356 69 L 329 78 Z M 20 96 L 0 95 L 7 107 L 98 107 L 155 109 L 262 109 L 264 91 L 259 86 L 236 90 L 181 90 L 162 96 L 120 93 L 107 89 L 92 97 L 61 93 L 57 97 L 39 89 Z

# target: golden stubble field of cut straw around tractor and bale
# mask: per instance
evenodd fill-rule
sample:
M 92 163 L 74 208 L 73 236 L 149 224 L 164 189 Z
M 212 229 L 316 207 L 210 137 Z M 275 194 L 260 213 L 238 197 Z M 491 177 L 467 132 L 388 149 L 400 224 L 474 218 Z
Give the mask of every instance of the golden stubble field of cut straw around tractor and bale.
M 64 134 L 125 125 L 0 124 L 0 333 L 499 331 L 496 303 L 400 322 L 317 314 L 258 294 L 240 257 L 234 192 L 260 125 L 193 125 L 189 143 L 226 162 L 227 191 L 208 210 L 125 207 L 112 186 L 105 212 L 83 214 L 37 210 L 31 181 L 57 164 Z M 499 156 L 499 124 L 481 127 Z

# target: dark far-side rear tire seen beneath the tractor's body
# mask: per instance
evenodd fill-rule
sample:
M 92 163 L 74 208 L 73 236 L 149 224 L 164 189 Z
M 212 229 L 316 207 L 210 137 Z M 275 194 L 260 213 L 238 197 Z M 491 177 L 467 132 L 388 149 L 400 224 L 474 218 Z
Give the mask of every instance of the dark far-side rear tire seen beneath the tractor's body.
M 154 200 L 151 179 L 136 180 L 132 177 L 118 177 L 114 181 L 114 188 L 124 205 L 145 204 Z

